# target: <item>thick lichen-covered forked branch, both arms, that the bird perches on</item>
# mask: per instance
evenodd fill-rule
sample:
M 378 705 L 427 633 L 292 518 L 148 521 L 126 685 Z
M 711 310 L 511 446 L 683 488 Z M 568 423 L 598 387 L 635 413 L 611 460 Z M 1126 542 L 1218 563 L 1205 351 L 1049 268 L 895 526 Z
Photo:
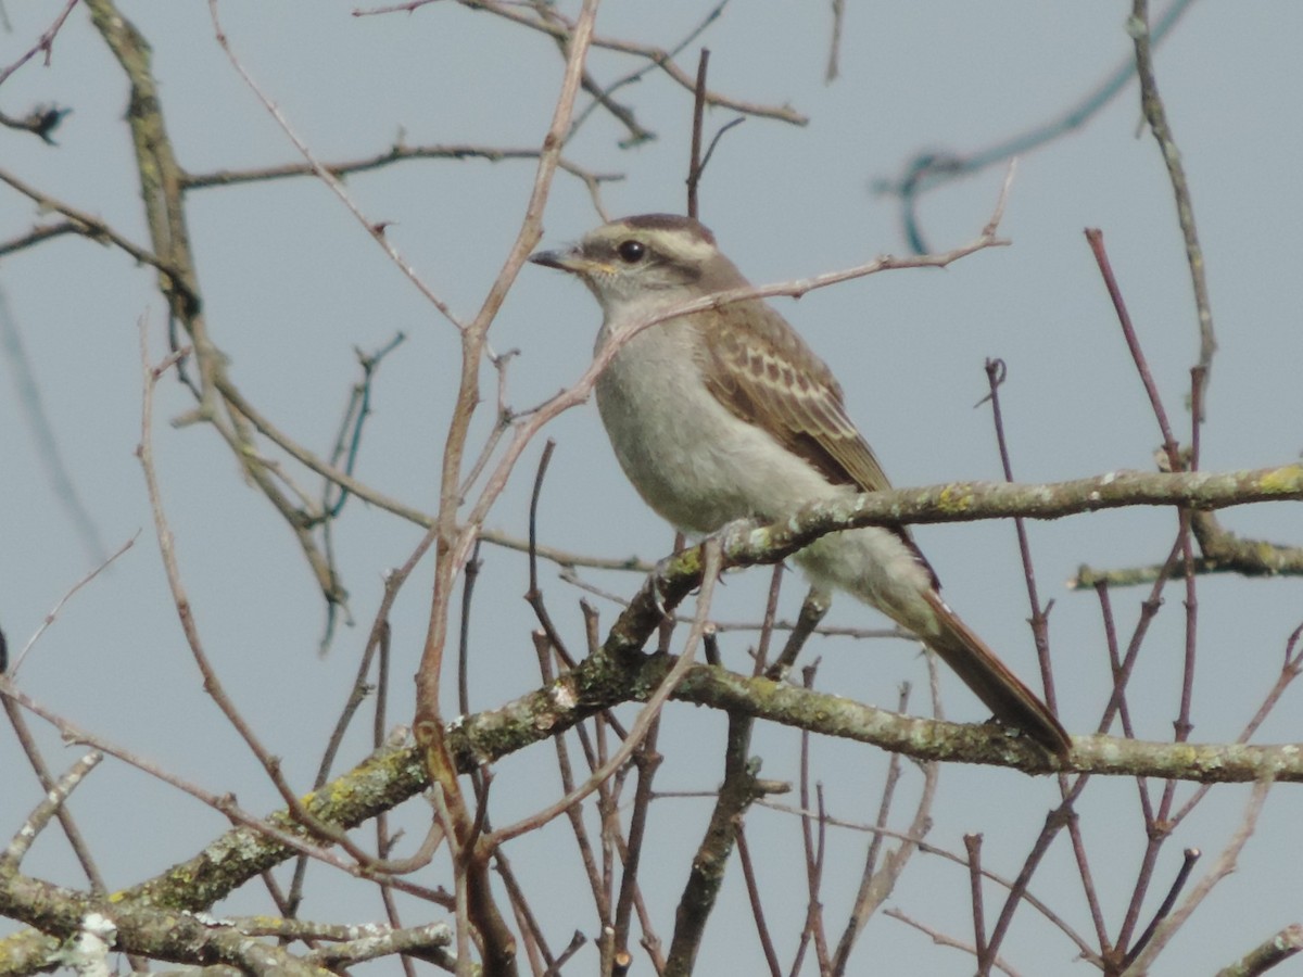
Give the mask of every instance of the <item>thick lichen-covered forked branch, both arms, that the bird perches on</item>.
M 952 483 L 930 488 L 874 492 L 835 505 L 809 507 L 780 525 L 731 528 L 724 535 L 731 565 L 771 563 L 813 538 L 852 526 L 903 522 L 946 522 L 1025 516 L 1059 518 L 1123 505 L 1187 505 L 1214 509 L 1227 505 L 1303 498 L 1303 466 L 1237 473 L 1143 474 L 1114 473 L 1058 485 Z M 620 615 L 603 646 L 552 684 L 500 709 L 455 720 L 448 744 L 459 766 L 515 753 L 556 736 L 593 714 L 637 701 L 657 688 L 674 666 L 667 655 L 638 650 L 662 620 L 698 582 L 700 551 L 670 560 L 644 584 Z M 766 679 L 734 675 L 696 666 L 675 697 L 698 706 L 751 715 L 825 736 L 856 740 L 919 759 L 988 763 L 1046 774 L 1076 770 L 1124 776 L 1156 776 L 1199 783 L 1253 782 L 1272 778 L 1303 782 L 1303 750 L 1296 746 L 1139 743 L 1108 736 L 1074 739 L 1067 761 L 1048 756 L 1036 744 L 998 726 L 959 726 L 903 716 L 883 709 Z M 416 748 L 377 754 L 356 770 L 306 800 L 326 822 L 353 827 L 390 810 L 427 787 Z M 279 830 L 308 838 L 284 812 L 271 817 Z M 188 864 L 117 894 L 122 901 L 143 900 L 155 907 L 211 907 L 258 873 L 297 855 L 297 849 L 254 828 L 224 835 Z M 29 918 L 17 894 L 5 898 L 5 913 Z M 55 927 L 57 929 L 57 927 Z M 29 934 L 30 935 L 30 934 Z M 16 935 L 0 941 L 0 955 L 16 952 Z M 40 947 L 40 950 L 36 950 Z M 48 951 L 38 941 L 34 952 Z

